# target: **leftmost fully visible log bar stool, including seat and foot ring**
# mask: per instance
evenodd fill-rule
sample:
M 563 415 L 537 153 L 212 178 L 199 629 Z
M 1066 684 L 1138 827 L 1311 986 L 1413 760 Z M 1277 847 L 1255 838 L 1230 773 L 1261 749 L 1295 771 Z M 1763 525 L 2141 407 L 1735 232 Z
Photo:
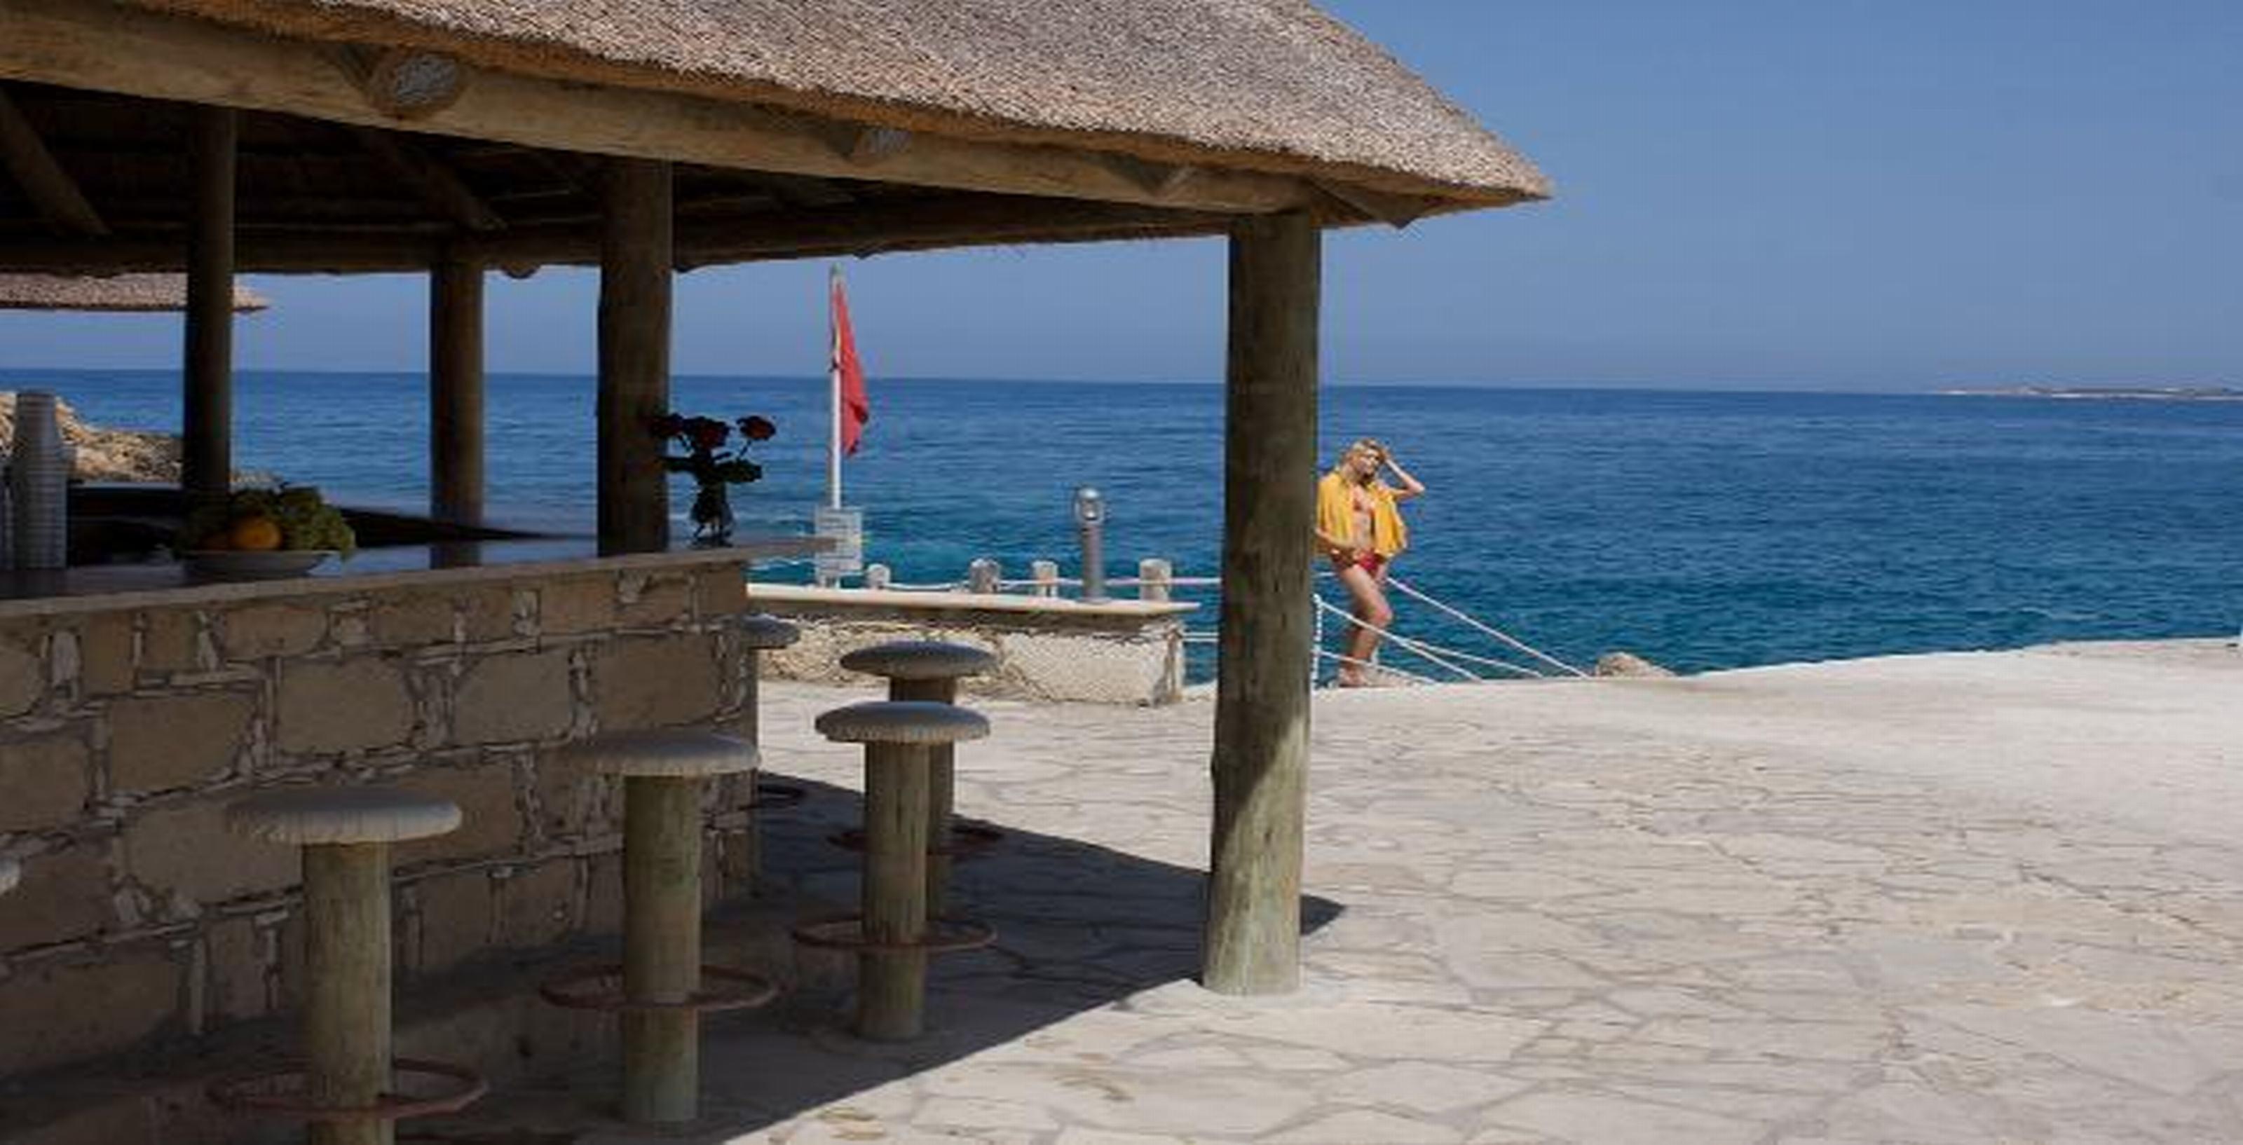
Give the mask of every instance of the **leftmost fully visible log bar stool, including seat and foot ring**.
M 395 1123 L 464 1109 L 487 1089 L 464 1067 L 390 1055 L 390 845 L 460 827 L 460 807 L 386 786 L 274 791 L 227 807 L 227 829 L 303 849 L 303 1049 L 285 1069 L 213 1082 L 211 1100 L 310 1120 L 312 1145 L 390 1145 Z M 435 1096 L 397 1076 L 440 1078 Z M 298 1091 L 274 1082 L 301 1078 Z

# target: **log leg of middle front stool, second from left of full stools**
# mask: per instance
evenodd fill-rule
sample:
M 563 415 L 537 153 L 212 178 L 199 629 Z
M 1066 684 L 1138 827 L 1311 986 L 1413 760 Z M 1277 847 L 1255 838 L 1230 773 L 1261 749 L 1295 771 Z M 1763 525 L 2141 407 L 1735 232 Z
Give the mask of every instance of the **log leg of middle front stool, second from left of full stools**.
M 624 780 L 624 997 L 684 1002 L 700 990 L 698 778 Z M 700 1105 L 700 1015 L 624 1013 L 624 1120 L 675 1125 Z

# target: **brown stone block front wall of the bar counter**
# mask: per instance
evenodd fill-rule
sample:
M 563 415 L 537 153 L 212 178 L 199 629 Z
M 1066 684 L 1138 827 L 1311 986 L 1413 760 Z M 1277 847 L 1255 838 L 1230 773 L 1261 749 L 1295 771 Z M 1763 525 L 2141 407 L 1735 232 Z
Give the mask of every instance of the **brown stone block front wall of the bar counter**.
M 460 831 L 397 849 L 397 968 L 621 928 L 621 791 L 554 746 L 742 722 L 738 562 L 0 616 L 0 1076 L 289 1006 L 298 856 L 222 827 L 265 786 L 390 782 Z M 716 786 L 745 890 L 751 778 Z

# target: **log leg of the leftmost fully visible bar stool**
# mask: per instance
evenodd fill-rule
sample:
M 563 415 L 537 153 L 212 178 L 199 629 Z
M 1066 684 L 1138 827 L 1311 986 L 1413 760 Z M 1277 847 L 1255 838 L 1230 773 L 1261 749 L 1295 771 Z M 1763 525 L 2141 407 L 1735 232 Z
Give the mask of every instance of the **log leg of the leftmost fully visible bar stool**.
M 303 1042 L 314 1105 L 375 1105 L 390 1085 L 390 847 L 303 849 Z M 390 1145 L 388 1120 L 323 1120 L 312 1145 Z

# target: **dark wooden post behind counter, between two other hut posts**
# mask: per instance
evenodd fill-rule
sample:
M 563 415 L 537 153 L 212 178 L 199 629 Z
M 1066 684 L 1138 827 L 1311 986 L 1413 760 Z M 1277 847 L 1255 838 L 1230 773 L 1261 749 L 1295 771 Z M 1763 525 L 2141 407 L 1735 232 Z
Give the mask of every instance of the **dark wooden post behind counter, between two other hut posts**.
M 482 264 L 428 271 L 428 515 L 482 524 Z

